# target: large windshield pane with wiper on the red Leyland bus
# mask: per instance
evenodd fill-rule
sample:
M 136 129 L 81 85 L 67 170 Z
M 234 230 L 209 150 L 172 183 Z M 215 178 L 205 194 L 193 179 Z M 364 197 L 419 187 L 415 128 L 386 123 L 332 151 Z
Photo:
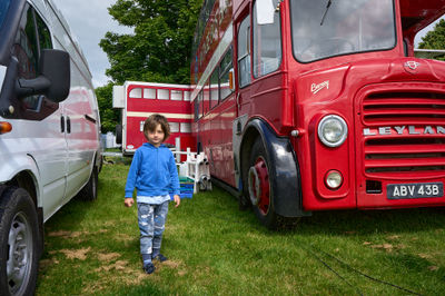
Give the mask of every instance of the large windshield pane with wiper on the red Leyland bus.
M 290 11 L 294 56 L 301 62 L 396 42 L 393 0 L 291 0 Z

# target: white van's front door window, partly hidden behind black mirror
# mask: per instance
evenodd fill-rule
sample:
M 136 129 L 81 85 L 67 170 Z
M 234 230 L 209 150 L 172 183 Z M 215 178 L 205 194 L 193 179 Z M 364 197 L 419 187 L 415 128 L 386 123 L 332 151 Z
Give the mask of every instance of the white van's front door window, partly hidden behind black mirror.
M 39 75 L 40 52 L 51 49 L 51 33 L 41 17 L 29 4 L 26 6 L 14 43 L 12 55 L 18 60 L 18 77 L 22 79 L 34 79 Z M 51 102 L 42 95 L 29 96 L 14 101 L 16 117 L 42 120 L 55 112 L 59 105 Z

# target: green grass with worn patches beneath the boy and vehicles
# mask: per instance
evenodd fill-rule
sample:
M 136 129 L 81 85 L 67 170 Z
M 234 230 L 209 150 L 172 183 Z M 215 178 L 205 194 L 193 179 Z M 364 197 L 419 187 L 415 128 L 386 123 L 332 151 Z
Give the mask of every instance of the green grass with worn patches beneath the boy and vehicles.
M 37 295 L 445 295 L 444 209 L 314 213 L 269 231 L 218 188 L 170 205 L 169 260 L 146 275 L 127 171 L 105 165 L 98 200 L 46 224 Z

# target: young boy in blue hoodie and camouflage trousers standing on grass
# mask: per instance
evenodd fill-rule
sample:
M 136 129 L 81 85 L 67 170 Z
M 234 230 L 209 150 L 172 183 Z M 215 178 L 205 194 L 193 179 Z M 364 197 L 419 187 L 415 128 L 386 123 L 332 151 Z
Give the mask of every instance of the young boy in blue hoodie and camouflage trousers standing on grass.
M 172 152 L 162 144 L 170 136 L 167 119 L 151 115 L 144 124 L 148 142 L 139 147 L 128 171 L 125 205 L 135 203 L 132 193 L 137 189 L 138 224 L 140 229 L 140 254 L 144 270 L 155 272 L 154 259 L 165 262 L 159 253 L 168 213 L 169 193 L 174 194 L 176 207 L 180 204 L 179 178 Z

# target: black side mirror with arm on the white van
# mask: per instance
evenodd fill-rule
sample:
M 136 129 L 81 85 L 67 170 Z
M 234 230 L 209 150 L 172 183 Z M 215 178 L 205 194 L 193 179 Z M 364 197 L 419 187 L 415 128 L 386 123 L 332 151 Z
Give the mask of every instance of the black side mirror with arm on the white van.
M 44 95 L 53 102 L 63 101 L 70 90 L 70 57 L 57 49 L 43 49 L 40 56 L 40 71 L 34 79 L 19 78 L 16 91 L 19 98 Z

